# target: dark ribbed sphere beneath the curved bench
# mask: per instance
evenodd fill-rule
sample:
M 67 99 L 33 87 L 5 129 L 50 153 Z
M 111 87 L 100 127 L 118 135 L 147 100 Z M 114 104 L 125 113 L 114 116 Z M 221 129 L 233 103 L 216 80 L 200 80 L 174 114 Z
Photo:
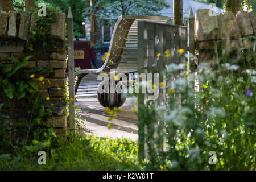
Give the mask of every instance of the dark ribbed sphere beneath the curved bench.
M 125 85 L 115 80 L 102 81 L 98 86 L 97 98 L 103 107 L 121 107 L 126 100 Z

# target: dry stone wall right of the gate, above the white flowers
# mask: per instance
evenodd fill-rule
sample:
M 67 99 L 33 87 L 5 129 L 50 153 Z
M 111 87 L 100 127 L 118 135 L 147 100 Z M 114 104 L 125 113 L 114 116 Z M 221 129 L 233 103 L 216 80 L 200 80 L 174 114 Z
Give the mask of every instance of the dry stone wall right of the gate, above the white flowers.
M 210 16 L 209 10 L 198 10 L 195 16 L 195 36 L 198 42 L 199 63 L 216 64 L 214 51 L 228 53 L 239 59 L 241 48 L 255 54 L 256 13 L 231 11 Z

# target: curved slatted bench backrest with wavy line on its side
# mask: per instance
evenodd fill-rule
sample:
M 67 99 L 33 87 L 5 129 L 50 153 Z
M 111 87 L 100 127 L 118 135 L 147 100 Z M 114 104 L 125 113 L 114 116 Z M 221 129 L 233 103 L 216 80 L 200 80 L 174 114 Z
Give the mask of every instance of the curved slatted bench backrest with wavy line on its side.
M 108 56 L 101 68 L 85 69 L 75 72 L 75 76 L 86 73 L 109 73 L 110 69 L 117 69 L 117 72 L 129 73 L 137 71 L 137 33 L 138 21 L 152 21 L 166 23 L 170 18 L 166 16 L 139 16 L 139 15 L 121 15 L 113 30 L 110 41 Z M 131 46 L 133 45 L 133 46 Z M 137 47 L 136 47 L 137 46 Z M 127 50 L 126 57 L 122 59 L 123 51 Z M 133 53 L 129 53 L 129 50 Z M 120 64 L 119 63 L 126 63 Z

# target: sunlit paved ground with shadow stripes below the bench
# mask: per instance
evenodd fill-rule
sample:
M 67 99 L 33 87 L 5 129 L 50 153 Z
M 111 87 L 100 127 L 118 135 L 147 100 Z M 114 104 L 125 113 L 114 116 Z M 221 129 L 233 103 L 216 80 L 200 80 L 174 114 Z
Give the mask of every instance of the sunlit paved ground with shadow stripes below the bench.
M 118 111 L 117 118 L 108 121 L 110 115 L 105 112 L 97 98 L 77 98 L 76 109 L 81 109 L 79 114 L 85 121 L 85 126 L 81 130 L 84 134 L 92 134 L 98 137 L 130 138 L 138 140 L 138 117 L 132 110 L 137 108 L 137 101 L 127 98 L 122 106 L 125 111 Z M 111 129 L 108 129 L 111 124 Z

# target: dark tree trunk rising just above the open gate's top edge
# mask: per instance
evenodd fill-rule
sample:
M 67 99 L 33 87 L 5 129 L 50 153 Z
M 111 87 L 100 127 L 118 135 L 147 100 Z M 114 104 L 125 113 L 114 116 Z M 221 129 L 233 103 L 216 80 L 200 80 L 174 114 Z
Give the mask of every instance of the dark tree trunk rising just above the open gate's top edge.
M 174 24 L 183 25 L 183 2 L 174 0 Z

